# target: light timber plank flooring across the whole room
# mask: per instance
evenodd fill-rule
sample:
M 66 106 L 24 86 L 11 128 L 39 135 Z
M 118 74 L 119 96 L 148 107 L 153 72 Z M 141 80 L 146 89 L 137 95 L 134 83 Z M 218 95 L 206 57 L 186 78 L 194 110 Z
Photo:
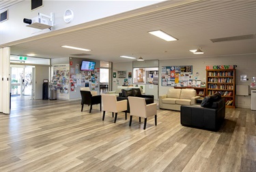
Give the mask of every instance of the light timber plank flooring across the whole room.
M 104 108 L 104 107 L 103 107 Z M 128 116 L 128 119 L 130 116 Z M 226 108 L 217 132 L 180 124 L 158 109 L 143 130 L 81 101 L 12 101 L 0 114 L 0 171 L 256 171 L 256 111 Z

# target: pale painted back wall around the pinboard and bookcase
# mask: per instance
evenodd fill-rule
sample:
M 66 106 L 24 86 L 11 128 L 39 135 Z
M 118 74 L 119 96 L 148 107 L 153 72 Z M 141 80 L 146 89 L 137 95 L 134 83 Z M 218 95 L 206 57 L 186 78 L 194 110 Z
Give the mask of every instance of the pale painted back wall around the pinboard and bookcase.
M 256 76 L 256 54 L 251 55 L 233 55 L 233 56 L 215 56 L 208 58 L 186 58 L 177 60 L 165 60 L 159 63 L 159 76 L 161 76 L 162 66 L 193 65 L 193 76 L 199 73 L 199 80 L 205 81 L 205 67 L 210 65 L 237 65 L 236 67 L 236 85 L 249 85 L 251 78 Z M 240 75 L 247 75 L 248 82 L 240 82 Z M 160 78 L 160 77 L 159 77 Z M 159 80 L 159 95 L 167 94 L 169 86 L 162 86 Z M 251 90 L 250 90 L 251 94 Z M 251 108 L 251 96 L 236 96 L 236 107 Z

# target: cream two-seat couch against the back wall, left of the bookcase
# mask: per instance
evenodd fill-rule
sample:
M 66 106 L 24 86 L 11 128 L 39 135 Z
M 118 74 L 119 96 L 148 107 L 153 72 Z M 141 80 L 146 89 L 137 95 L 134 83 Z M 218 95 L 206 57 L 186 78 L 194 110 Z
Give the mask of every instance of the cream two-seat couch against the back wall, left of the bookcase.
M 181 105 L 196 104 L 197 92 L 194 89 L 169 88 L 167 94 L 159 96 L 159 108 L 180 111 Z

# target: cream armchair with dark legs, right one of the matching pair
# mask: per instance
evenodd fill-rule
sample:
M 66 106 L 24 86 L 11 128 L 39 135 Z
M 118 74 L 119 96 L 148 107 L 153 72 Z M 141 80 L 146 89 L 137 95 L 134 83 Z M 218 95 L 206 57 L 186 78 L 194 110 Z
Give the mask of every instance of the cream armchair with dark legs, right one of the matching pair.
M 145 99 L 141 97 L 128 97 L 128 100 L 130 104 L 129 126 L 132 124 L 132 116 L 139 116 L 139 122 L 141 122 L 141 117 L 145 118 L 144 130 L 147 125 L 147 117 L 155 116 L 155 125 L 157 124 L 156 103 L 146 105 Z

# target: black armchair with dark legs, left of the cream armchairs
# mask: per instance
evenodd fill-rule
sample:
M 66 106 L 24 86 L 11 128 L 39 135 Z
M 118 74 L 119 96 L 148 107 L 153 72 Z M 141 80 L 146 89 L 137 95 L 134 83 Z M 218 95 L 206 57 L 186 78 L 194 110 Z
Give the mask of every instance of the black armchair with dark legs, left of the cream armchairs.
M 83 105 L 91 105 L 89 113 L 91 113 L 92 105 L 100 104 L 100 111 L 101 111 L 101 95 L 91 95 L 90 91 L 81 90 L 81 97 L 82 97 L 82 109 L 83 111 Z

